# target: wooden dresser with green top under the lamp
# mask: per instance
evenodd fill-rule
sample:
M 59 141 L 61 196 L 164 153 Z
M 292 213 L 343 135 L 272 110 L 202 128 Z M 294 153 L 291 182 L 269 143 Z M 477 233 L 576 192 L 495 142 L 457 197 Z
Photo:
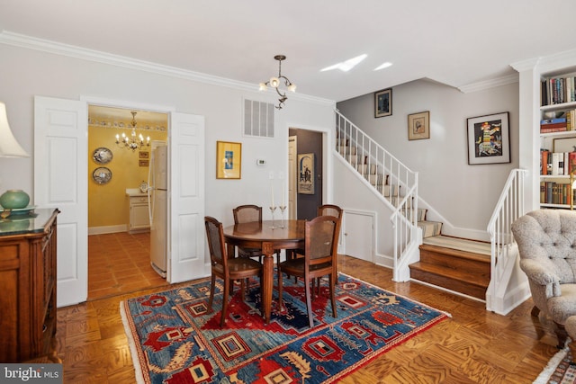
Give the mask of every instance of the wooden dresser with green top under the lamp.
M 56 218 L 36 209 L 0 220 L 0 362 L 56 353 Z

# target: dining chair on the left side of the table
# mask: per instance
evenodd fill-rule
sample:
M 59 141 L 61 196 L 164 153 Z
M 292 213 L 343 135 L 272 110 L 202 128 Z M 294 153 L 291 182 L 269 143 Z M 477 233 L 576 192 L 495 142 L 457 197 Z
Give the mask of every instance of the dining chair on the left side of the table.
M 222 223 L 210 216 L 204 217 L 206 226 L 206 237 L 208 238 L 208 247 L 210 249 L 211 262 L 211 285 L 210 299 L 208 300 L 208 313 L 212 311 L 212 302 L 214 300 L 214 288 L 216 286 L 216 277 L 224 281 L 224 296 L 222 297 L 222 314 L 220 317 L 220 328 L 224 326 L 228 315 L 228 299 L 230 290 L 234 289 L 233 282 L 240 281 L 240 290 L 242 301 L 245 299 L 245 280 L 250 277 L 258 276 L 262 281 L 262 264 L 249 257 L 228 257 L 227 247 L 224 242 L 224 230 Z M 262 285 L 260 284 L 260 289 Z

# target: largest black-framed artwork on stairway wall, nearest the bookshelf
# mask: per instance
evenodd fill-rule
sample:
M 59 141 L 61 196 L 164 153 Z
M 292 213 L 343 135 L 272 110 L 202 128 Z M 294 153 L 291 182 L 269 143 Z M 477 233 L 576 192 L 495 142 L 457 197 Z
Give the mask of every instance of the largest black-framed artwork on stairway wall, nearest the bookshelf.
M 467 119 L 468 164 L 510 162 L 509 112 Z

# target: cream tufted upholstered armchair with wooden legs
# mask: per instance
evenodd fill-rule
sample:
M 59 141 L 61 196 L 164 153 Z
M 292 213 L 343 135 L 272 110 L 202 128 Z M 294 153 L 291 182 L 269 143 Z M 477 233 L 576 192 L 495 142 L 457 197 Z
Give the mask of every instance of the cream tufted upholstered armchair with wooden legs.
M 514 221 L 512 232 L 535 304 L 532 315 L 554 321 L 563 347 L 566 320 L 576 315 L 576 211 L 534 210 Z

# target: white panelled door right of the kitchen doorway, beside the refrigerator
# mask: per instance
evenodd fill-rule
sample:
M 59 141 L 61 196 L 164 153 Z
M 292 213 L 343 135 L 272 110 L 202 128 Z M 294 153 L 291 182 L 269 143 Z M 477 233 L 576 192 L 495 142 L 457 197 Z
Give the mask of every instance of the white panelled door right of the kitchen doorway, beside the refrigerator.
M 167 280 L 174 283 L 208 275 L 204 263 L 204 117 L 174 112 L 170 128 Z

